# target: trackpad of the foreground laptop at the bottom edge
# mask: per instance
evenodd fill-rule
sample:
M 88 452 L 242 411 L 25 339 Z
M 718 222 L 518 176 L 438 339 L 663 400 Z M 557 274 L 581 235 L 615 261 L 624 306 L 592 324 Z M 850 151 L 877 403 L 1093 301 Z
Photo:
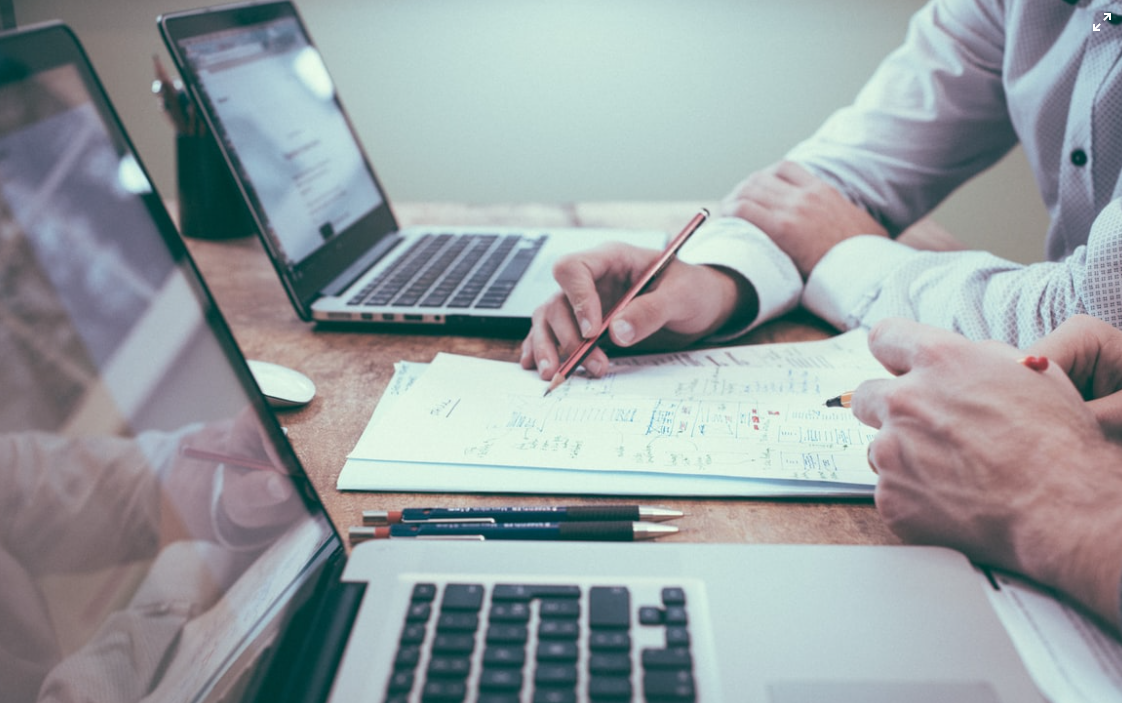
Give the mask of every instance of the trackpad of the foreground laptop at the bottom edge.
M 789 682 L 767 693 L 771 703 L 999 703 L 983 682 Z

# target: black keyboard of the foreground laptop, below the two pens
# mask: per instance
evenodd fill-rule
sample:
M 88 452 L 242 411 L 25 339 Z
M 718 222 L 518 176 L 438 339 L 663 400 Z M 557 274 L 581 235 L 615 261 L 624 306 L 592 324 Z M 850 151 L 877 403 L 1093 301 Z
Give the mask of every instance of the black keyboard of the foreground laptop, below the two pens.
M 414 585 L 386 703 L 697 700 L 686 590 Z

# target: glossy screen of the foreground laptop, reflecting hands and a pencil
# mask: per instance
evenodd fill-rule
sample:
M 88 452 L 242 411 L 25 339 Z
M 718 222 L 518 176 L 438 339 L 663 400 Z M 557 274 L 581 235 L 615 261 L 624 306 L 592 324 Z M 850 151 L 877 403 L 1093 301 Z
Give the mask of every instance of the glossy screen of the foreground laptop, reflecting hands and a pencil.
M 206 699 L 338 547 L 118 124 L 0 37 L 4 701 Z

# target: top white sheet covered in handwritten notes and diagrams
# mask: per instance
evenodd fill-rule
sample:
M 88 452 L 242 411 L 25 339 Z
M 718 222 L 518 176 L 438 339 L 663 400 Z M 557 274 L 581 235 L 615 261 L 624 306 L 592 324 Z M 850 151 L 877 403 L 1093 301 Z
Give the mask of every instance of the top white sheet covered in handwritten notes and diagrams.
M 351 459 L 872 484 L 873 431 L 826 398 L 884 376 L 863 334 L 615 360 L 545 383 L 440 354 Z

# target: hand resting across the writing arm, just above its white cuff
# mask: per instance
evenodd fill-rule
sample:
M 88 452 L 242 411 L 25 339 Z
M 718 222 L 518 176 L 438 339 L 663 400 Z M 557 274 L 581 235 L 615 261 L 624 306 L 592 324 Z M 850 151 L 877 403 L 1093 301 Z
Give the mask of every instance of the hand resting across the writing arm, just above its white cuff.
M 780 161 L 742 182 L 721 212 L 755 224 L 794 261 L 802 278 L 838 242 L 888 232 L 867 212 L 791 161 Z

